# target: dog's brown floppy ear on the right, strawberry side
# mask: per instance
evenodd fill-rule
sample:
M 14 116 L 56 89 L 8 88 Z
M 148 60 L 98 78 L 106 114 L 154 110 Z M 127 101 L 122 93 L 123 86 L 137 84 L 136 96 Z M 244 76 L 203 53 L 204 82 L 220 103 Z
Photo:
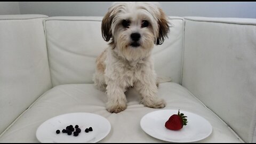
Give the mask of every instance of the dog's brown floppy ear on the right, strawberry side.
M 164 38 L 167 37 L 168 38 L 168 33 L 170 31 L 169 29 L 169 21 L 165 15 L 165 13 L 163 12 L 162 9 L 158 8 L 160 15 L 158 17 L 158 37 L 156 39 L 156 44 L 157 45 L 161 45 L 164 42 Z

